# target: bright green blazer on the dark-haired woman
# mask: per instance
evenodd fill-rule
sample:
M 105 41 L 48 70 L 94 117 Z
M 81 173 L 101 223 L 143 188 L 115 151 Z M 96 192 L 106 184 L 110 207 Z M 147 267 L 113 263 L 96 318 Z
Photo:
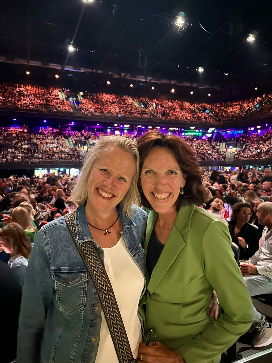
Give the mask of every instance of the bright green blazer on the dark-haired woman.
M 147 251 L 157 213 L 147 221 Z M 181 207 L 162 250 L 147 294 L 140 301 L 145 327 L 157 340 L 179 350 L 187 363 L 217 363 L 252 322 L 251 299 L 231 250 L 228 228 L 195 205 Z M 223 313 L 209 315 L 213 289 Z

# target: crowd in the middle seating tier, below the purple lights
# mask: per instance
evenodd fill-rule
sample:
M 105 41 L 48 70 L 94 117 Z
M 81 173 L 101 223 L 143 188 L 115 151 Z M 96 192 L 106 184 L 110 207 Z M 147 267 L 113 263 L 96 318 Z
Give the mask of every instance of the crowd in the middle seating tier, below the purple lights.
M 54 160 L 81 161 L 86 151 L 95 145 L 101 137 L 112 135 L 111 132 L 74 131 L 70 128 L 60 132 L 51 127 L 41 127 L 39 132 L 22 128 L 0 128 L 0 163 L 37 163 Z M 133 132 L 121 134 L 137 140 Z M 226 146 L 222 140 L 187 137 L 186 142 L 193 148 L 197 160 L 219 160 L 226 158 Z M 235 159 L 261 159 L 272 157 L 272 132 L 263 135 L 253 134 L 236 138 L 238 147 L 234 151 Z M 85 146 L 85 148 L 84 148 Z

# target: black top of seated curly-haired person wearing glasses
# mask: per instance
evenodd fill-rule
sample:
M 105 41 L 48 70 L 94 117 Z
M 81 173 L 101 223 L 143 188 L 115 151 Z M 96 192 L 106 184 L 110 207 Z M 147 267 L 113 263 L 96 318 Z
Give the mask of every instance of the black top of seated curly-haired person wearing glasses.
M 234 242 L 240 250 L 240 260 L 248 260 L 252 257 L 255 252 L 259 249 L 259 228 L 257 229 L 250 223 L 246 223 L 241 231 L 234 236 L 235 221 L 229 223 L 228 229 L 230 230 L 230 235 L 232 242 Z M 248 248 L 244 249 L 238 242 L 238 237 L 244 238 Z

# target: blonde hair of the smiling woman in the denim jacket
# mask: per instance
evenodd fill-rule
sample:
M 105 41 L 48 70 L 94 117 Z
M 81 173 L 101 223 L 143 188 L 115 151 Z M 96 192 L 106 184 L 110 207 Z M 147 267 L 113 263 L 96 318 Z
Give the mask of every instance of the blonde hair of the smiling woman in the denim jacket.
M 131 139 L 126 139 L 121 136 L 104 136 L 95 144 L 92 150 L 88 152 L 79 177 L 77 178 L 77 181 L 73 187 L 70 199 L 78 205 L 82 205 L 85 203 L 88 198 L 88 175 L 91 172 L 94 163 L 102 154 L 102 151 L 104 151 L 105 148 L 108 146 L 117 146 L 124 151 L 128 151 L 135 160 L 135 175 L 133 176 L 131 185 L 126 195 L 120 202 L 123 215 L 131 217 L 132 204 L 140 204 L 140 194 L 137 188 L 140 158 L 135 141 Z

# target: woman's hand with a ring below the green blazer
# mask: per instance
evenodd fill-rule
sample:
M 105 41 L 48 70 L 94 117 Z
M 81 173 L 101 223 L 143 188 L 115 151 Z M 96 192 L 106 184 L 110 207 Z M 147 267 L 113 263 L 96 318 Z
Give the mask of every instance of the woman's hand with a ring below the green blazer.
M 178 350 L 169 350 L 162 343 L 156 342 L 155 346 L 149 343 L 148 346 L 145 343 L 140 343 L 138 363 L 184 363 L 182 355 Z

